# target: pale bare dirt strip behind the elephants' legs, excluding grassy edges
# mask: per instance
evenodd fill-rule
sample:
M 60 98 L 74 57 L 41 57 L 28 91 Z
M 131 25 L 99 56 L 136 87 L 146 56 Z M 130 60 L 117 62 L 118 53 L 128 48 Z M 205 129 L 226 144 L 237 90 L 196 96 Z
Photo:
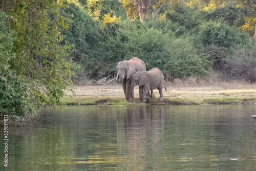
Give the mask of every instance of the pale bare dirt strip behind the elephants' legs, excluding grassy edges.
M 233 88 L 189 88 L 189 87 L 166 87 L 167 92 L 163 91 L 165 97 L 187 97 L 191 95 L 200 97 L 220 97 L 220 96 L 250 96 L 256 98 L 256 89 L 233 89 Z M 124 96 L 121 86 L 75 86 L 74 92 L 76 96 L 97 96 L 97 97 L 122 97 Z M 74 95 L 66 92 L 67 95 Z M 138 88 L 135 88 L 135 96 L 139 95 Z M 154 90 L 154 96 L 158 96 L 158 90 Z

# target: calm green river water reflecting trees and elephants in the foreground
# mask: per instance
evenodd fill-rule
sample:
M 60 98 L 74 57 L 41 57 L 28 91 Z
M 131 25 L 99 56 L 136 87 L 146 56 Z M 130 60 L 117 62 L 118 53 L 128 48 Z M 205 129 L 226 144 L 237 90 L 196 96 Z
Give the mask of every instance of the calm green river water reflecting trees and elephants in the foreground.
M 66 106 L 9 127 L 1 170 L 256 170 L 256 105 Z

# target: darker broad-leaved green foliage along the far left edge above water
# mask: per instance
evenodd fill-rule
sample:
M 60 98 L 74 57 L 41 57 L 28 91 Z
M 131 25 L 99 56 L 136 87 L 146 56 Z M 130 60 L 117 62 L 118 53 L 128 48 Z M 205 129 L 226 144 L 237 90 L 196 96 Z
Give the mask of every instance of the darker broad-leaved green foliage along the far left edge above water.
M 13 31 L 5 27 L 7 15 L 0 11 L 0 114 L 24 116 L 34 112 L 29 100 L 28 82 L 24 76 L 16 76 L 9 62 L 15 59 Z M 19 119 L 19 118 L 17 118 Z

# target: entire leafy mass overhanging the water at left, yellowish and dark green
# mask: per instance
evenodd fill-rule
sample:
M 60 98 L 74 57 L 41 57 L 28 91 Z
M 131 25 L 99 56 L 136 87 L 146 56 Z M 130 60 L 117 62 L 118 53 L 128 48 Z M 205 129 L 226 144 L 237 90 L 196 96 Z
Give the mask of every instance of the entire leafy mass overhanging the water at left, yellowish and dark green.
M 1 32 L 1 114 L 25 116 L 33 108 L 62 104 L 63 90 L 72 90 L 70 46 L 63 41 L 61 30 L 70 20 L 60 15 L 67 1 L 19 0 L 7 2 L 5 11 L 12 17 L 1 23 L 10 29 Z M 1 18 L 6 17 L 1 14 Z M 2 31 L 1 30 L 1 31 Z M 9 102 L 8 102 L 9 100 Z M 12 106 L 12 107 L 11 107 Z

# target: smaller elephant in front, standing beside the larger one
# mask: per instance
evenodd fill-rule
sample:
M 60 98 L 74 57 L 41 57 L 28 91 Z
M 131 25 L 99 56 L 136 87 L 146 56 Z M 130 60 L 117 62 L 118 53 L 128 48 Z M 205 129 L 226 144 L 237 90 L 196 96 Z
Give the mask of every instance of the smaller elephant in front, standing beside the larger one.
M 131 78 L 131 91 L 132 101 L 134 98 L 134 87 L 139 84 L 140 101 L 146 102 L 145 95 L 151 90 L 151 98 L 153 98 L 153 89 L 158 89 L 160 98 L 163 100 L 162 89 L 164 87 L 163 73 L 158 68 L 153 68 L 150 71 L 139 71 L 136 72 Z

